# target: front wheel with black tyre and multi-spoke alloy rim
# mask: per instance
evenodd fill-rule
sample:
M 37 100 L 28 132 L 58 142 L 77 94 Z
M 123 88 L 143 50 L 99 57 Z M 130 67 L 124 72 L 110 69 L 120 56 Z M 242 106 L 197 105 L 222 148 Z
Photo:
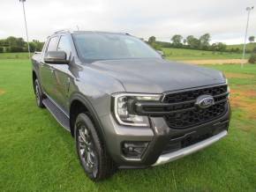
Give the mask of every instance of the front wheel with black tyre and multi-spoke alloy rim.
M 100 181 L 113 173 L 114 163 L 87 114 L 76 119 L 75 141 L 80 164 L 91 180 Z

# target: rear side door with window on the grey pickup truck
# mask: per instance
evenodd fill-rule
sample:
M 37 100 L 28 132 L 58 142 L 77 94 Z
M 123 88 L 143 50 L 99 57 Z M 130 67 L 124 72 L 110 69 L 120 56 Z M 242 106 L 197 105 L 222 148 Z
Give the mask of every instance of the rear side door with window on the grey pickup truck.
M 49 97 L 54 95 L 54 66 L 51 63 L 44 63 L 44 55 L 48 51 L 56 51 L 57 43 L 59 37 L 51 37 L 48 41 L 48 46 L 45 48 L 45 51 L 41 59 L 41 68 L 39 70 L 41 77 L 41 86 L 43 91 L 46 92 Z

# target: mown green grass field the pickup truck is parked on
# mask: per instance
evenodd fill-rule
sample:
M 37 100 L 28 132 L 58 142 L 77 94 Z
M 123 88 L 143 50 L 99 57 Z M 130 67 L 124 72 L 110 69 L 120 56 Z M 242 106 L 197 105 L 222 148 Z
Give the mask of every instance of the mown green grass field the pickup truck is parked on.
M 207 67 L 223 70 L 230 80 L 229 136 L 167 165 L 120 170 L 94 183 L 79 166 L 70 133 L 36 107 L 30 62 L 0 59 L 0 191 L 255 192 L 256 65 Z

